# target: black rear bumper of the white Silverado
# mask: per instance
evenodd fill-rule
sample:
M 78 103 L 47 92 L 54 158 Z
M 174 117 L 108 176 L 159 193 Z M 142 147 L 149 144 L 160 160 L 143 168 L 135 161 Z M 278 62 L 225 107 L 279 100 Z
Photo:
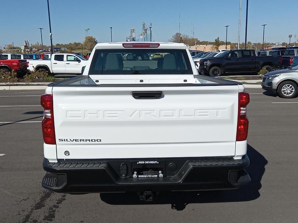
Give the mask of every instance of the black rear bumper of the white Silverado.
M 47 173 L 42 180 L 42 186 L 52 191 L 66 193 L 199 191 L 235 189 L 250 182 L 250 177 L 244 170 L 249 166 L 247 155 L 240 160 L 233 158 L 156 159 L 154 161 L 164 165 L 162 178 L 133 178 L 132 168 L 137 161 L 139 160 L 49 163 L 44 159 L 43 167 Z M 153 160 L 150 159 L 150 161 Z M 123 164 L 126 165 L 126 169 L 120 168 Z

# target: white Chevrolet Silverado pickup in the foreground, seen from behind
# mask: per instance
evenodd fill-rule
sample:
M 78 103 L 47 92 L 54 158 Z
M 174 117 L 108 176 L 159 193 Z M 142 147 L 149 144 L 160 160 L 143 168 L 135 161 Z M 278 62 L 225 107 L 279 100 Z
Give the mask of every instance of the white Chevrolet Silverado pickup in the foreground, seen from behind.
M 248 103 L 241 83 L 198 75 L 182 43 L 98 43 L 83 75 L 41 96 L 42 186 L 143 200 L 238 188 L 250 181 Z

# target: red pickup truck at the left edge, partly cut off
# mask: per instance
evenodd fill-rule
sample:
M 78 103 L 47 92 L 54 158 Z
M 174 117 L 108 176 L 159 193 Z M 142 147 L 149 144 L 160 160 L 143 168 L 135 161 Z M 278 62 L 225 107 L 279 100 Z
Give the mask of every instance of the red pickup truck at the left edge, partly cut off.
M 27 67 L 29 67 L 29 62 L 22 59 L 4 59 L 4 56 L 0 54 L 0 71 L 11 71 L 15 70 L 17 73 L 25 74 L 27 72 Z

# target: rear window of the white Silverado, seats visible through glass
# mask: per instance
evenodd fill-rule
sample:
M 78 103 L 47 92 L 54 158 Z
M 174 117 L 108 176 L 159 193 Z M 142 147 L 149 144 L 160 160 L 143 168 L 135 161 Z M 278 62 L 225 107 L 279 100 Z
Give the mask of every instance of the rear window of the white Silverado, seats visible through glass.
M 186 50 L 98 49 L 94 52 L 92 74 L 192 74 Z

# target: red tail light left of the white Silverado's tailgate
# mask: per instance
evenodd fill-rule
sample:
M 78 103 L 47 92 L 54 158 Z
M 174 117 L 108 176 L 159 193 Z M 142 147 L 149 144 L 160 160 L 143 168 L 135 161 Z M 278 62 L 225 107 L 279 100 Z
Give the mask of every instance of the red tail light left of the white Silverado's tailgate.
M 41 106 L 44 107 L 44 119 L 41 122 L 42 135 L 46 144 L 55 145 L 55 126 L 53 112 L 53 95 L 41 95 Z

